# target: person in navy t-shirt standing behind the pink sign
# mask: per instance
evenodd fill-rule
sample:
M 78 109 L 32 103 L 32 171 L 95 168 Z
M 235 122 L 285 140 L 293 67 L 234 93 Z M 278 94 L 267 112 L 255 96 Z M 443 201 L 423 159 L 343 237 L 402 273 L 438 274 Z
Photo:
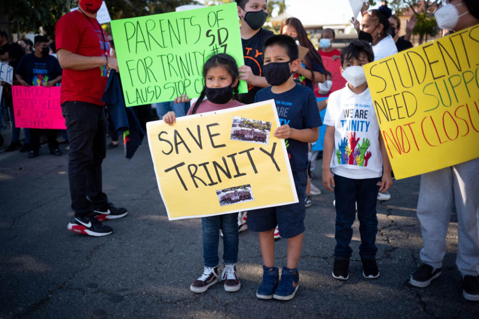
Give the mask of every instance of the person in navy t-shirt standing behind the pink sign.
M 20 59 L 15 77 L 24 86 L 55 86 L 61 81 L 62 69 L 58 60 L 54 56 L 49 55 L 50 48 L 48 43 L 50 41 L 43 35 L 35 36 L 34 41 L 35 52 L 25 54 Z M 45 132 L 48 138 L 50 154 L 61 156 L 58 142 L 56 141 L 58 130 L 31 129 L 31 148 L 28 152 L 28 158 L 32 159 L 38 156 L 42 132 Z

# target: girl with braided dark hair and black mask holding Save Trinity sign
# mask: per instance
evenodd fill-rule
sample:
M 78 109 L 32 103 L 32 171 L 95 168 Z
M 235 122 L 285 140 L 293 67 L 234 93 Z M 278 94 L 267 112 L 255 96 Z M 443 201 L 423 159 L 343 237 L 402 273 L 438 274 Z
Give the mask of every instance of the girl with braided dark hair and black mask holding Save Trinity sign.
M 191 106 L 187 115 L 224 110 L 243 105 L 238 102 L 239 71 L 235 59 L 225 53 L 213 55 L 203 66 L 205 86 L 198 101 Z M 235 99 L 233 99 L 235 95 Z M 207 97 L 207 100 L 203 99 Z M 178 97 L 175 103 L 186 103 L 186 95 Z M 173 111 L 163 116 L 163 121 L 169 125 L 176 122 Z M 240 290 L 241 284 L 236 272 L 238 261 L 238 213 L 203 217 L 203 258 L 205 268 L 203 275 L 195 280 L 190 290 L 194 293 L 204 293 L 219 280 L 226 280 L 224 288 L 228 292 Z M 220 242 L 220 229 L 223 231 L 223 246 L 225 268 L 219 275 L 218 246 Z

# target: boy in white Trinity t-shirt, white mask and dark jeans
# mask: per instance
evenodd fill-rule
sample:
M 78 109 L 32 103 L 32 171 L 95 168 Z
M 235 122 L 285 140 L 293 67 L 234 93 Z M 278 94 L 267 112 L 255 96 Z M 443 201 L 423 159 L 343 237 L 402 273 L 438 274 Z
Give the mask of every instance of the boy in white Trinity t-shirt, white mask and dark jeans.
M 380 134 L 363 65 L 374 60 L 371 45 L 353 41 L 341 51 L 346 86 L 329 96 L 324 124 L 323 184 L 336 198 L 336 247 L 333 277 L 349 278 L 349 247 L 357 203 L 365 278 L 379 277 L 376 265 L 376 201 L 378 191 L 392 185 L 391 164 Z M 384 169 L 384 170 L 383 170 Z M 332 172 L 331 172 L 332 171 Z

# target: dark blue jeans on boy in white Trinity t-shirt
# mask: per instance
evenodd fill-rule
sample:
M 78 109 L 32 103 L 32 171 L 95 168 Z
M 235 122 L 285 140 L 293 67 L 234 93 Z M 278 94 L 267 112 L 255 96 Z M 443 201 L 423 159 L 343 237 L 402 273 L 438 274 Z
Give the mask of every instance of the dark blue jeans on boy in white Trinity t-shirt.
M 376 203 L 381 178 L 352 179 L 334 175 L 334 196 L 336 197 L 336 247 L 334 256 L 351 257 L 353 250 L 349 247 L 353 236 L 351 226 L 356 218 L 355 202 L 358 203 L 359 256 L 361 258 L 375 258 L 376 233 L 378 232 L 378 218 L 376 217 Z

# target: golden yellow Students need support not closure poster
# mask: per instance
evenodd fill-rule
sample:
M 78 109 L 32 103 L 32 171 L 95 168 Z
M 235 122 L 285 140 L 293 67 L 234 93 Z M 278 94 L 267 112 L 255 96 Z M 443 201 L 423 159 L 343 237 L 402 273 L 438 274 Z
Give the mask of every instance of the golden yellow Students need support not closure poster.
M 396 178 L 479 157 L 479 25 L 364 66 Z

